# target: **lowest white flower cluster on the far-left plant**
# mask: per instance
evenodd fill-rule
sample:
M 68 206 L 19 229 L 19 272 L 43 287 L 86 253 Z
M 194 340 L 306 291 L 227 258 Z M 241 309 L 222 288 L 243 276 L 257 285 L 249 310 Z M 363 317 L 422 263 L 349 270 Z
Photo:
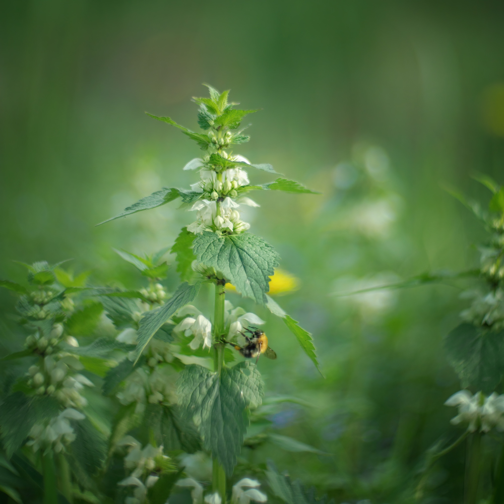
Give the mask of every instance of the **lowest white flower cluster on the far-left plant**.
M 75 440 L 74 429 L 69 420 L 84 420 L 84 418 L 86 417 L 79 411 L 67 408 L 45 424 L 36 423 L 28 434 L 31 439 L 26 444 L 31 446 L 34 452 L 40 449 L 44 451 L 52 449 L 59 453 Z

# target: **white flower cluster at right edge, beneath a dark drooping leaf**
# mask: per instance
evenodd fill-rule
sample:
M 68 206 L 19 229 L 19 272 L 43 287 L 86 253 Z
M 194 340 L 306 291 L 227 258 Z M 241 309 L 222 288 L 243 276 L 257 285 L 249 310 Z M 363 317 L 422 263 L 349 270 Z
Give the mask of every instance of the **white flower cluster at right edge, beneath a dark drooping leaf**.
M 449 397 L 445 405 L 459 408 L 459 414 L 451 423 L 468 423 L 470 432 L 488 432 L 492 427 L 504 430 L 504 394 L 499 396 L 494 392 L 484 396 L 477 392 L 472 395 L 468 390 L 461 390 Z

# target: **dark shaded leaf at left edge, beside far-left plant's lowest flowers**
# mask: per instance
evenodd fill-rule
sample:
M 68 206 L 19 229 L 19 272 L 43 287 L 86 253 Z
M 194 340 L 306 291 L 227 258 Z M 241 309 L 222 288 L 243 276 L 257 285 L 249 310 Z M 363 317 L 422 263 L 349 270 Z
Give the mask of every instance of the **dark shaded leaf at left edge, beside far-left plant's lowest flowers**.
M 35 423 L 58 413 L 59 403 L 53 397 L 27 397 L 22 392 L 8 396 L 0 405 L 0 435 L 7 457 L 23 444 Z

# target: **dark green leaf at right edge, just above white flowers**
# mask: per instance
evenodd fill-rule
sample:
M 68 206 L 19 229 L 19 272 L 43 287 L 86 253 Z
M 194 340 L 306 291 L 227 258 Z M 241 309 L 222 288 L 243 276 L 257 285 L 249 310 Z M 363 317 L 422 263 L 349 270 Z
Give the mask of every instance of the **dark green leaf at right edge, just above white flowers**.
M 445 339 L 450 364 L 463 388 L 492 392 L 504 373 L 504 331 L 492 332 L 461 324 Z

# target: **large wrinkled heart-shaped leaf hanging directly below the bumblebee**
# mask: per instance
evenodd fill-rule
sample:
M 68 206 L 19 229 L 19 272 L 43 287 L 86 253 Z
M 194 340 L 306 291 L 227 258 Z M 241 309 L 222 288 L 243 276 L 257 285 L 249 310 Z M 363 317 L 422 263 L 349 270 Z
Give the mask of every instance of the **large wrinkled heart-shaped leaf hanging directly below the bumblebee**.
M 198 426 L 205 449 L 219 460 L 228 476 L 249 423 L 245 410 L 261 404 L 263 385 L 250 361 L 223 367 L 220 377 L 198 364 L 185 366 L 180 372 L 177 394 L 181 413 Z

